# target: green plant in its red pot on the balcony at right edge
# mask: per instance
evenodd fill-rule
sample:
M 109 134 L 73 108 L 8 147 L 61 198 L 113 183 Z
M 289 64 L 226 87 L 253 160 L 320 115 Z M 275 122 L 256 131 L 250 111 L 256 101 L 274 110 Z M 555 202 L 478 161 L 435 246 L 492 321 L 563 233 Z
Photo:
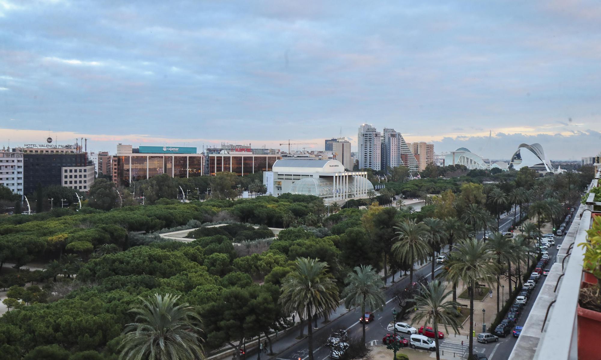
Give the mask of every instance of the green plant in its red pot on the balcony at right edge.
M 582 281 L 578 297 L 578 358 L 596 359 L 601 333 L 601 217 L 594 218 L 587 233 L 587 242 L 578 245 L 585 249 L 584 272 L 595 281 Z

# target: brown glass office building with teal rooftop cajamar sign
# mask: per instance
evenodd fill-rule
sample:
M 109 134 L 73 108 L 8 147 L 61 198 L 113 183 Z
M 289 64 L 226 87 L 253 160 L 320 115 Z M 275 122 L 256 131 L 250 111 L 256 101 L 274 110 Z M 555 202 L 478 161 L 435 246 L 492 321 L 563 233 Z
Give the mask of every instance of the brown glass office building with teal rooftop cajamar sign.
M 112 178 L 117 186 L 129 186 L 130 181 L 168 174 L 173 178 L 203 175 L 204 155 L 197 148 L 183 146 L 117 145 L 112 157 Z

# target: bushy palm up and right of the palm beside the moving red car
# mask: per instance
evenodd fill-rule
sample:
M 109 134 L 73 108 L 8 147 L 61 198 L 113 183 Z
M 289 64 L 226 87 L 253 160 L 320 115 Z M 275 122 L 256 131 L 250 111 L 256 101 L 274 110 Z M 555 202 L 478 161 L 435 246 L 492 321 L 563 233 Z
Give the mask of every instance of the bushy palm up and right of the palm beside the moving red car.
M 394 229 L 399 241 L 392 245 L 392 253 L 399 262 L 409 262 L 409 283 L 413 283 L 413 263 L 415 260 L 426 259 L 430 253 L 430 245 L 426 242 L 428 227 L 415 219 L 399 223 Z

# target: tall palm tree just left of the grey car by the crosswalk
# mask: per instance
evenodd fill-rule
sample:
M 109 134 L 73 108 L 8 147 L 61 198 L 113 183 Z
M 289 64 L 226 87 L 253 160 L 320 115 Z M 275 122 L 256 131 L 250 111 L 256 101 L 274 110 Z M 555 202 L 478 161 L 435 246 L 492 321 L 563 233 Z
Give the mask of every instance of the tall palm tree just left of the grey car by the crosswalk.
M 469 287 L 469 334 L 474 332 L 474 292 L 478 281 L 492 284 L 497 266 L 482 240 L 465 239 L 457 242 L 447 261 L 447 276 L 451 281 L 462 280 Z M 469 355 L 474 353 L 474 337 L 469 337 Z

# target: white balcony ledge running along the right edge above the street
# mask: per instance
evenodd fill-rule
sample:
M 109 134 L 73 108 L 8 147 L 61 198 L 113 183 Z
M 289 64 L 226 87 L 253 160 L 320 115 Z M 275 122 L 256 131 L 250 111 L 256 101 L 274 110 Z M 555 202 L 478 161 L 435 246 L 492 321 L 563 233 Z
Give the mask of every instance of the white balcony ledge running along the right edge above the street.
M 597 164 L 595 179 L 587 192 L 597 187 L 601 178 L 601 166 Z M 579 354 L 578 349 L 578 296 L 584 277 L 582 264 L 585 250 L 578 244 L 587 241 L 587 230 L 591 227 L 593 212 L 601 202 L 594 201 L 591 194 L 575 211 L 572 226 L 561 244 L 556 262 L 543 284 L 522 333 L 509 357 L 518 359 L 593 359 Z M 593 337 L 601 337 L 588 330 Z M 592 344 L 598 346 L 598 343 Z M 599 353 L 597 357 L 599 358 Z

